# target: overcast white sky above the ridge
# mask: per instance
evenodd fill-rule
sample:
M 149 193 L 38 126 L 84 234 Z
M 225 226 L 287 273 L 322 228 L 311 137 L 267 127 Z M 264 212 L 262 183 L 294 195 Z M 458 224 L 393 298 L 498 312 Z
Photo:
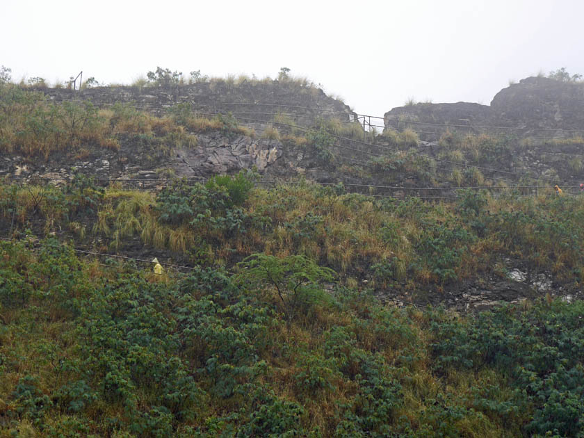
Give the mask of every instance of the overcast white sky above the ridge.
M 409 97 L 489 104 L 510 80 L 584 74 L 583 17 L 583 0 L 1 0 L 0 65 L 49 83 L 285 66 L 383 115 Z

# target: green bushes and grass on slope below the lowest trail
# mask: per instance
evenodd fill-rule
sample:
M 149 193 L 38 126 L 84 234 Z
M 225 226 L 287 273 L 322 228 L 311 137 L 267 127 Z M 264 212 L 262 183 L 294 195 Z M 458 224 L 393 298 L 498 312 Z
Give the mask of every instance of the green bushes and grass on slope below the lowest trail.
M 300 255 L 155 275 L 54 238 L 0 242 L 0 273 L 2 437 L 584 432 L 582 302 L 463 317 Z

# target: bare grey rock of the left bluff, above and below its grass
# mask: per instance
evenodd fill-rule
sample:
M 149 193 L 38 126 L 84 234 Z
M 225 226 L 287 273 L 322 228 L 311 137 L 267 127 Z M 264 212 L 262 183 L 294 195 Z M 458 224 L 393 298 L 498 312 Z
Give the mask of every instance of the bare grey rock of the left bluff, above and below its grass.
M 314 126 L 319 118 L 341 122 L 356 118 L 343 102 L 297 81 L 235 84 L 219 80 L 189 86 L 38 90 L 54 102 L 88 101 L 100 108 L 120 102 L 154 115 L 165 115 L 176 104 L 186 104 L 188 111 L 209 117 L 232 113 L 238 124 L 254 129 L 256 136 L 220 130 L 197 133 L 196 145 L 192 147 L 154 147 L 139 138 L 120 138 L 119 151 L 83 145 L 81 153 L 54 154 L 46 161 L 5 156 L 0 158 L 0 176 L 68 179 L 72 172 L 79 171 L 98 179 L 156 179 L 165 175 L 209 177 L 249 168 L 266 175 L 293 176 L 314 167 L 314 163 L 293 141 L 263 138 L 263 129 L 273 122 L 275 115 L 284 116 L 286 122 L 298 127 Z M 286 132 L 285 126 L 278 129 Z

